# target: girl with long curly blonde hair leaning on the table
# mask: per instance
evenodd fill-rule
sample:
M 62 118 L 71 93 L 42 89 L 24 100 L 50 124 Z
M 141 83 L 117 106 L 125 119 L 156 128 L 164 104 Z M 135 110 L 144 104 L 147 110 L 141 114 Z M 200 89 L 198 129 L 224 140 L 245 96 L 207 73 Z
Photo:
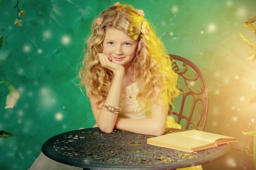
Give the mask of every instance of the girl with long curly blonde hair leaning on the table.
M 181 128 L 167 116 L 168 104 L 179 94 L 177 75 L 143 10 L 117 2 L 101 12 L 92 24 L 79 77 L 92 105 L 94 128 L 148 135 L 162 135 L 166 127 Z M 30 169 L 82 168 L 41 153 Z

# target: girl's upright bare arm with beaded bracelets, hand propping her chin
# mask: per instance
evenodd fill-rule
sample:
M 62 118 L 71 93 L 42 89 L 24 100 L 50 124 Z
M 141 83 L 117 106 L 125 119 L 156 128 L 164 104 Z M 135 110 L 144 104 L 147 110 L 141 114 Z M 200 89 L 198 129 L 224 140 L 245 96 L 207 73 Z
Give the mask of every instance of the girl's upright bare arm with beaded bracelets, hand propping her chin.
M 112 70 L 114 73 L 113 82 L 110 87 L 109 94 L 106 98 L 105 103 L 113 107 L 119 107 L 125 69 L 123 68 L 123 66 L 118 65 L 117 63 L 110 62 L 110 59 L 105 54 L 100 53 L 99 59 L 103 67 Z M 86 86 L 85 88 L 86 90 L 88 90 Z M 97 109 L 95 104 L 96 101 L 98 101 L 98 99 L 93 96 L 89 96 L 89 98 L 92 106 L 93 116 L 96 120 L 96 124 L 101 129 L 101 131 L 104 131 L 105 133 L 112 133 L 118 114 L 106 111 L 104 109 Z M 99 104 L 98 107 L 101 108 L 102 104 L 103 102 Z

